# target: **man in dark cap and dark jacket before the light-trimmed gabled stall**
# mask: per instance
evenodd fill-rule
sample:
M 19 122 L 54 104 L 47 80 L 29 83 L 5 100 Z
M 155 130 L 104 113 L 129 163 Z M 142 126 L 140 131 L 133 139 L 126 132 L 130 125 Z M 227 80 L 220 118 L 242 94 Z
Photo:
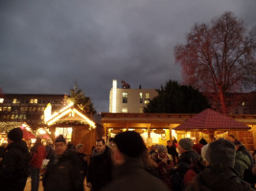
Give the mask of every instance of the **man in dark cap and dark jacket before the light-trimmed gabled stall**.
M 83 176 L 81 160 L 76 152 L 67 149 L 65 138 L 55 140 L 55 157 L 50 159 L 43 178 L 45 191 L 81 191 Z

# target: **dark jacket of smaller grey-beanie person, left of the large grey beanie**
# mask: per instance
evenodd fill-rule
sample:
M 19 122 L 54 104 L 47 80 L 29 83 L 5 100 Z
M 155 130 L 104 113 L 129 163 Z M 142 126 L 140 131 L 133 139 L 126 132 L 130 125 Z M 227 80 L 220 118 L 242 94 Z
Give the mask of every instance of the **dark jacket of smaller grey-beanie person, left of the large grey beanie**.
M 172 189 L 175 191 L 181 191 L 184 189 L 184 177 L 189 169 L 191 169 L 193 163 L 198 163 L 200 159 L 199 154 L 194 151 L 186 151 L 183 153 L 177 162 L 176 168 L 171 173 Z M 186 183 L 187 183 L 186 179 Z

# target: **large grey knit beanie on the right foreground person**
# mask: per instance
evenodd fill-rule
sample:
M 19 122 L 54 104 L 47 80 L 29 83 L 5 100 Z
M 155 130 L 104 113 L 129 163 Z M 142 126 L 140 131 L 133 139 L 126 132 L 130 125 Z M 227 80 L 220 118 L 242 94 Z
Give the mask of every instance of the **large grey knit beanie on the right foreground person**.
M 212 167 L 234 168 L 235 154 L 235 145 L 229 140 L 219 138 L 218 140 L 209 144 L 205 159 L 207 159 Z

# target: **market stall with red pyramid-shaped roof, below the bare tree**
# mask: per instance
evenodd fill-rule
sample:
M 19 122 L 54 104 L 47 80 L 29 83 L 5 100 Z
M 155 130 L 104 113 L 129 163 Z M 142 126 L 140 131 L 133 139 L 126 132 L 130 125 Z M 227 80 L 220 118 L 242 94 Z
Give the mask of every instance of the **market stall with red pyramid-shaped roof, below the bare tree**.
M 228 135 L 234 135 L 244 143 L 248 150 L 254 150 L 251 127 L 211 109 L 206 109 L 184 121 L 175 127 L 175 131 L 180 138 L 187 137 L 189 134 L 189 137 L 195 138 L 197 142 L 200 138 L 211 142 L 214 138 L 227 138 Z

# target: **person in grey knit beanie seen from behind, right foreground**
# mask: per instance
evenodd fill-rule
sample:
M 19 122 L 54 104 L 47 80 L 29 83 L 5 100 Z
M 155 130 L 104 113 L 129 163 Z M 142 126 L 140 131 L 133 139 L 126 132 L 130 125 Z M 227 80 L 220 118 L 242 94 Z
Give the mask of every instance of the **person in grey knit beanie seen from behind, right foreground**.
M 236 148 L 224 138 L 211 142 L 206 150 L 208 167 L 190 182 L 186 191 L 252 191 L 251 185 L 242 180 L 234 171 Z

